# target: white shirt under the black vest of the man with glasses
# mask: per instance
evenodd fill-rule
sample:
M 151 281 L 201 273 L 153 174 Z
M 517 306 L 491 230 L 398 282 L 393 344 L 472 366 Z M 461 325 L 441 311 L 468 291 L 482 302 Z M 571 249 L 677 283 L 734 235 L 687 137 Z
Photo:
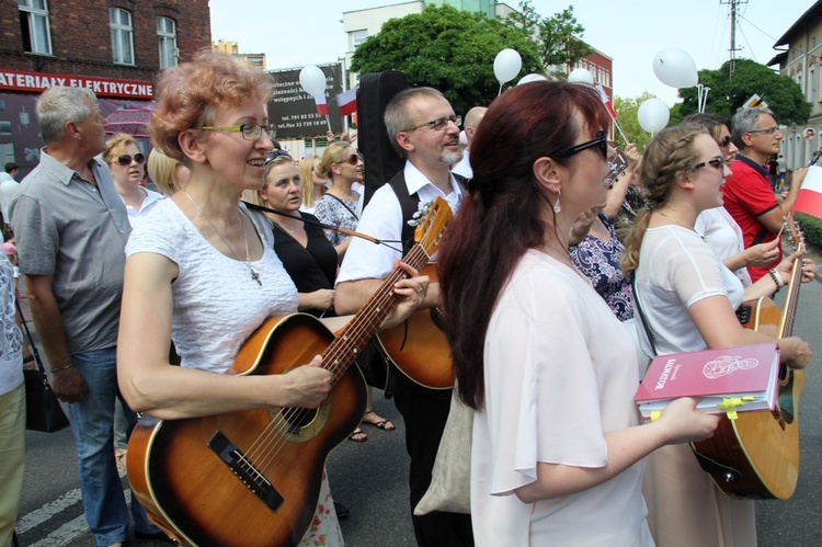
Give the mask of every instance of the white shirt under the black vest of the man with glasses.
M 463 200 L 463 190 L 452 176 L 452 192 L 446 196 L 442 190 L 429 182 L 422 172 L 410 161 L 403 171 L 409 194 L 416 192 L 420 203 L 439 196 L 445 198 L 454 214 Z M 352 238 L 349 250 L 340 266 L 336 283 L 376 278 L 384 280 L 393 270 L 393 261 L 402 258 L 402 208 L 397 194 L 388 184 L 380 186 L 363 209 L 356 231 L 373 236 L 388 243 L 374 244 L 361 238 Z

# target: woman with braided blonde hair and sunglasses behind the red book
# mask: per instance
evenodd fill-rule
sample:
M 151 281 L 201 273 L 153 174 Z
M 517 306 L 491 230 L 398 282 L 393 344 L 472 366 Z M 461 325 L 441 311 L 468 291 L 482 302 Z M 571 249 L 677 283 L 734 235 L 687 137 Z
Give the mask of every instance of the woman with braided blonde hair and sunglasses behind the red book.
M 720 189 L 731 174 L 715 138 L 696 125 L 663 129 L 648 145 L 640 171 L 649 205 L 626 240 L 623 269 L 635 277 L 643 351 L 664 355 L 773 341 L 744 329 L 734 310 L 783 286 L 798 254 L 743 288 L 697 235 L 697 216 L 722 205 Z M 804 263 L 802 281 L 814 273 L 815 266 Z M 781 339 L 779 347 L 790 367 L 810 361 L 811 349 L 799 338 Z M 643 492 L 659 545 L 756 545 L 753 501 L 727 497 L 687 445 L 666 446 L 648 458 Z

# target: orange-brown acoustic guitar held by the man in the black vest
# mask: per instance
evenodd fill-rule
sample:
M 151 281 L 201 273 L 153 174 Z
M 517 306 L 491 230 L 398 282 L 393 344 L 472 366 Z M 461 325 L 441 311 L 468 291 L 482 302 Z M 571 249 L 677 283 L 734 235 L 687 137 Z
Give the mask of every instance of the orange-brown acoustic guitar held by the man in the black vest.
M 628 157 L 617 149 L 608 162 L 608 174 L 604 182 L 613 185 L 618 176 L 625 175 L 627 168 Z M 429 263 L 422 273 L 430 276 L 432 282 L 437 281 L 435 263 Z M 454 364 L 438 308 L 418 310 L 404 322 L 380 332 L 376 338 L 386 358 L 411 380 L 430 389 L 454 387 Z

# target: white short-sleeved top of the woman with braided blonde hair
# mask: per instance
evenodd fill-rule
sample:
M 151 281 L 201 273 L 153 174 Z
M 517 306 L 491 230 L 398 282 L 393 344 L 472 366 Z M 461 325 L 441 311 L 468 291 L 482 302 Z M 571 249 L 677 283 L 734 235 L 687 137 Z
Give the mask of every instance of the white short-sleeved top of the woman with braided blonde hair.
M 680 226 L 646 230 L 639 255 L 633 298 L 642 351 L 654 355 L 638 306 L 648 318 L 657 354 L 705 350 L 688 308 L 703 298 L 723 295 L 737 309 L 744 295 L 742 282 L 698 233 Z

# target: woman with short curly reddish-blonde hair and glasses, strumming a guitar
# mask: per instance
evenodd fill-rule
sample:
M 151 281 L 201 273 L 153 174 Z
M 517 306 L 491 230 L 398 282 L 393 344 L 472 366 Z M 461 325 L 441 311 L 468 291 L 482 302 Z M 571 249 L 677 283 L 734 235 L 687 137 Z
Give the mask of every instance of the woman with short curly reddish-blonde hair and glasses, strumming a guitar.
M 266 318 L 297 311 L 297 289 L 274 252 L 267 220 L 239 201 L 263 185 L 273 148 L 272 91 L 264 72 L 212 52 L 160 75 L 152 144 L 191 166 L 191 176 L 132 232 L 117 346 L 123 394 L 153 418 L 315 409 L 332 389 L 319 355 L 288 374 L 224 374 Z M 397 284 L 385 324 L 401 321 L 424 298 L 427 278 L 404 269 L 411 277 Z M 172 340 L 182 366 L 169 363 Z M 129 472 L 133 465 L 139 467 L 129 457 Z M 342 545 L 324 475 L 300 545 Z M 238 510 L 222 508 L 227 518 Z

